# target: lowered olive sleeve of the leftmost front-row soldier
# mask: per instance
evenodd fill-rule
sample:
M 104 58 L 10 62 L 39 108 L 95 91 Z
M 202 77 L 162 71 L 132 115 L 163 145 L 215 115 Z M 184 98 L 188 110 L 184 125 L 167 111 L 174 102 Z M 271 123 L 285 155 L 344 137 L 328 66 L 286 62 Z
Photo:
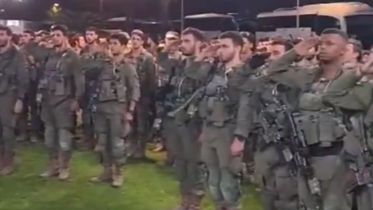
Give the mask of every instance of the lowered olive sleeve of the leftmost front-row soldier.
M 26 70 L 25 57 L 21 54 L 21 52 L 16 53 L 16 58 L 14 62 L 17 72 L 16 77 L 18 81 L 18 98 L 23 98 L 28 90 L 29 75 L 28 71 Z

